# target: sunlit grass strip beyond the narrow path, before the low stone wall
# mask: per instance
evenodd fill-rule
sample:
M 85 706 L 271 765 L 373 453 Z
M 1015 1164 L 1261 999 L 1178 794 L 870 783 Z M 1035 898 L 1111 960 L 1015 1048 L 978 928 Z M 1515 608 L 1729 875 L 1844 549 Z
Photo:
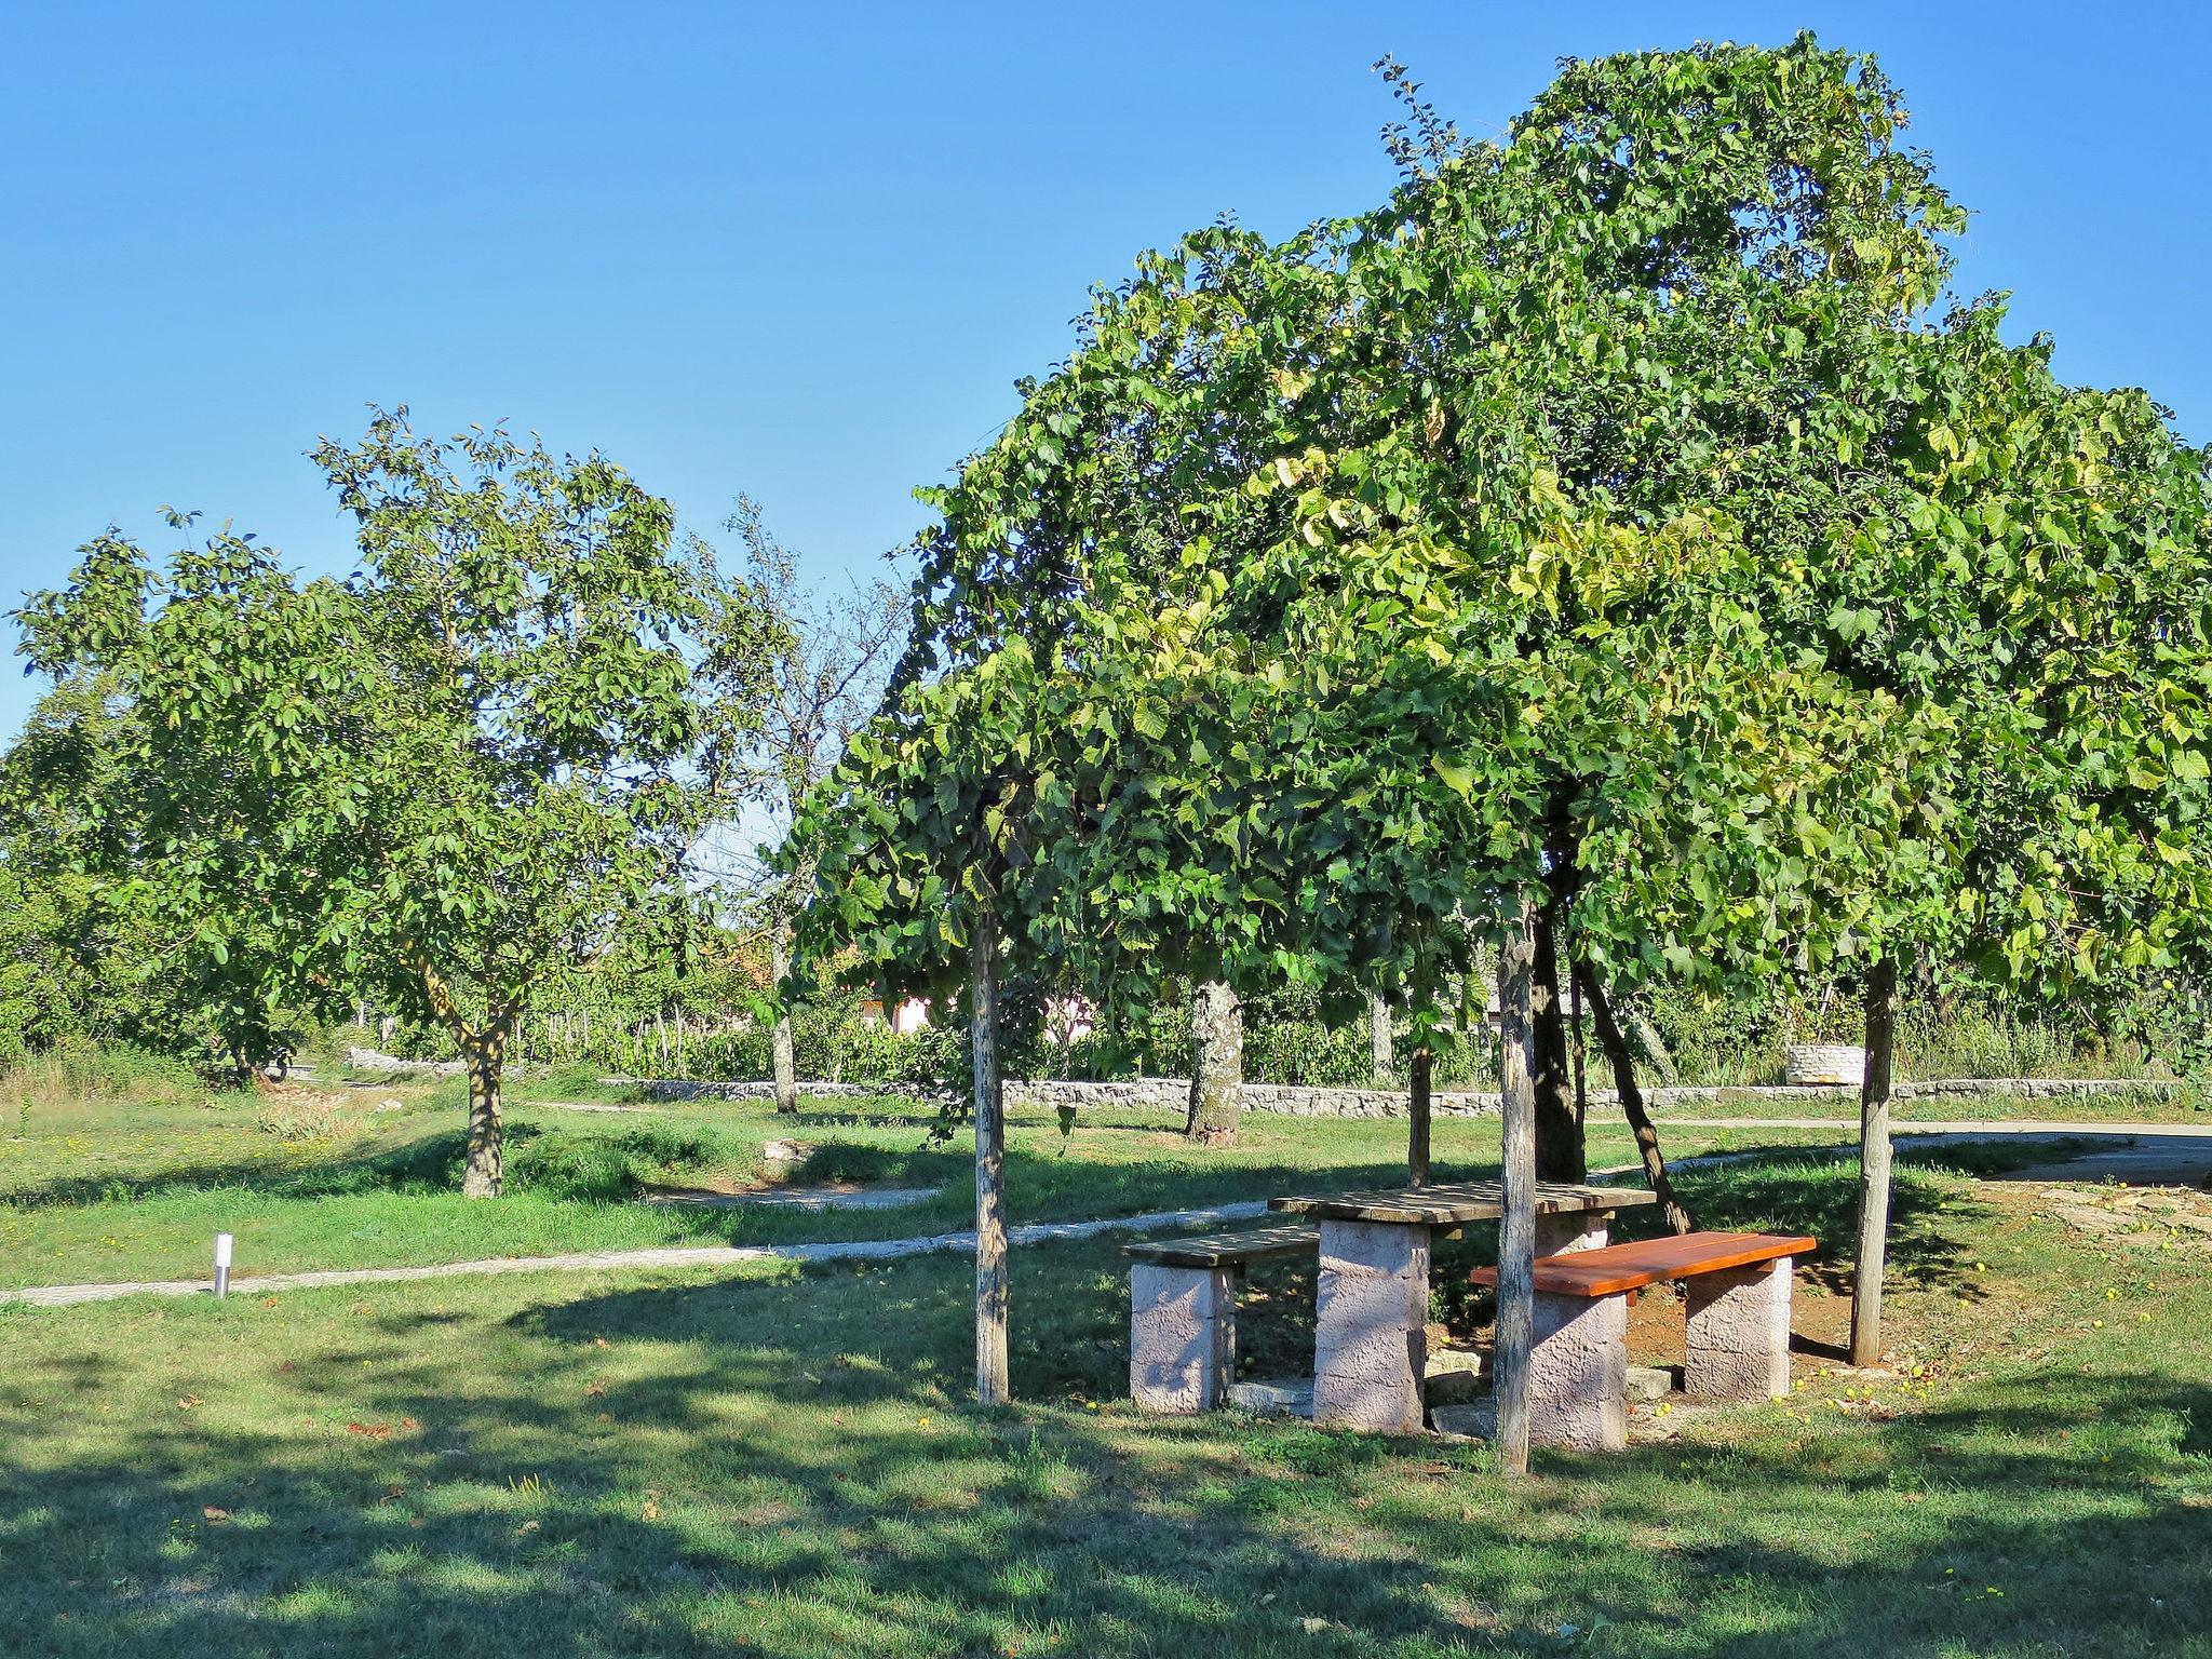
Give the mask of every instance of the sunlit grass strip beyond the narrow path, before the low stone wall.
M 509 1194 L 458 1192 L 458 1086 L 279 1091 L 199 1102 L 80 1099 L 0 1133 L 0 1287 L 197 1279 L 217 1232 L 237 1274 L 407 1267 L 487 1256 L 657 1245 L 896 1239 L 967 1228 L 973 1159 L 960 1135 L 931 1144 L 933 1113 L 907 1099 L 765 1102 L 655 1110 L 509 1108 Z M 1398 1181 L 1405 1124 L 1252 1113 L 1234 1148 L 1194 1150 L 1170 1113 L 1013 1113 L 1006 1190 L 1015 1221 L 1079 1221 L 1267 1199 L 1314 1186 Z M 814 1152 L 770 1168 L 763 1141 Z M 1672 1150 L 1790 1139 L 1772 1130 L 1679 1130 Z M 1807 1135 L 1801 1139 L 1820 1139 Z M 1593 1164 L 1635 1164 L 1615 1119 L 1593 1119 Z M 1495 1170 L 1495 1119 L 1438 1119 L 1440 1172 Z M 748 1188 L 858 1181 L 931 1197 L 885 1210 L 697 1210 L 648 1206 L 639 1183 Z

